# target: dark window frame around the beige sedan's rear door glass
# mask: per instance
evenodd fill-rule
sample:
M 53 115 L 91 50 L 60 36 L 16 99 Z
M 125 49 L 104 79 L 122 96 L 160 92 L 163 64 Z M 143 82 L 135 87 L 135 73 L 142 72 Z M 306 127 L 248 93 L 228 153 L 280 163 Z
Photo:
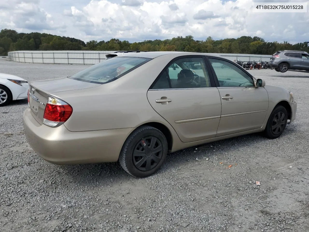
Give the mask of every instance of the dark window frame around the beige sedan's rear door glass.
M 207 64 L 207 61 L 205 59 L 205 56 L 203 55 L 185 55 L 185 56 L 178 56 L 176 58 L 173 58 L 170 62 L 167 63 L 167 65 L 163 68 L 163 70 L 159 73 L 159 75 L 156 77 L 155 81 L 150 85 L 150 87 L 148 88 L 148 90 L 167 90 L 166 88 L 163 89 L 153 89 L 154 85 L 157 83 L 157 81 L 159 80 L 160 76 L 163 74 L 164 71 L 167 72 L 167 68 L 171 66 L 171 64 L 173 62 L 175 62 L 176 60 L 179 59 L 184 59 L 184 58 L 202 58 L 205 64 L 205 67 L 207 69 L 208 75 L 209 75 L 209 80 L 210 80 L 210 87 L 199 87 L 199 88 L 217 88 L 216 83 L 215 83 L 215 79 L 214 76 L 212 74 L 212 72 L 210 71 L 210 67 Z M 196 89 L 196 88 L 171 88 L 171 80 L 169 78 L 169 75 L 167 73 L 167 79 L 168 79 L 168 83 L 170 85 L 169 90 L 171 89 Z

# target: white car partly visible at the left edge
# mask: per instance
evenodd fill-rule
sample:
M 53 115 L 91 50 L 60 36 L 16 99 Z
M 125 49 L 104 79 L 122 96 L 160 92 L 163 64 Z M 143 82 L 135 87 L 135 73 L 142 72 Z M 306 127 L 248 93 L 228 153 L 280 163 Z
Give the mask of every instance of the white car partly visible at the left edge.
M 25 79 L 0 73 L 0 106 L 8 105 L 11 101 L 28 98 L 29 84 Z

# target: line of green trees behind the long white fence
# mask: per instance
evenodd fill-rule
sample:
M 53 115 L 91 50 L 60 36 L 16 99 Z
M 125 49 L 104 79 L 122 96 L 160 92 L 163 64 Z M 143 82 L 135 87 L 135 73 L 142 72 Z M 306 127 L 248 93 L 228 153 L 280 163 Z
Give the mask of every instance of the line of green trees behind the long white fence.
M 0 55 L 20 50 L 97 50 L 97 51 L 186 51 L 203 53 L 235 53 L 271 55 L 278 50 L 300 50 L 309 52 L 309 42 L 290 44 L 286 41 L 266 42 L 260 37 L 242 36 L 237 39 L 194 40 L 193 36 L 178 36 L 166 40 L 145 40 L 129 43 L 119 39 L 109 41 L 82 40 L 46 33 L 18 33 L 11 29 L 0 31 Z

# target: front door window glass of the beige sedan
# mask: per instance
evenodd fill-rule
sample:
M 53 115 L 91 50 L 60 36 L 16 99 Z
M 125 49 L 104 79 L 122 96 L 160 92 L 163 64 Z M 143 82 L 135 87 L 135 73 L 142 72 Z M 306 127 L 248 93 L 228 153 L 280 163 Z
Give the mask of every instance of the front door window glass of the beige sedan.
M 236 65 L 212 58 L 209 61 L 217 75 L 220 87 L 254 87 L 253 79 Z

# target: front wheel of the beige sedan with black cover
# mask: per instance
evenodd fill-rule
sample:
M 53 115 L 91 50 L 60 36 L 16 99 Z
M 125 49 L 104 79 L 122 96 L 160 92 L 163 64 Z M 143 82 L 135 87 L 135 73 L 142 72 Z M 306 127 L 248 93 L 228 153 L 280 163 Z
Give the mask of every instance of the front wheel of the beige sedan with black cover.
M 269 139 L 278 138 L 286 128 L 287 119 L 288 112 L 286 111 L 286 108 L 282 105 L 276 106 L 268 118 L 264 136 Z

